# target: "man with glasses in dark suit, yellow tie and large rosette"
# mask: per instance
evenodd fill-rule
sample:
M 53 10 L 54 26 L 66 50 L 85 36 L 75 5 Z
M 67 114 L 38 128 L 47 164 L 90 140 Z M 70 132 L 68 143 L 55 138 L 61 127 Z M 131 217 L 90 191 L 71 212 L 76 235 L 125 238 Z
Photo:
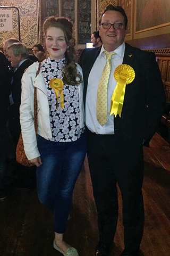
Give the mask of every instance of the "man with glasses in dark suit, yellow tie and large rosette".
M 88 161 L 98 212 L 99 242 L 95 254 L 98 256 L 108 256 L 114 240 L 117 185 L 123 204 L 124 251 L 121 255 L 139 253 L 144 225 L 142 146 L 149 145 L 165 103 L 155 55 L 124 43 L 127 30 L 128 18 L 123 8 L 108 5 L 99 20 L 103 46 L 84 49 L 80 56 Z M 106 95 L 107 120 L 100 124 L 97 104 L 104 95 L 98 99 L 98 85 L 108 62 L 105 54 L 111 52 L 114 54 Z

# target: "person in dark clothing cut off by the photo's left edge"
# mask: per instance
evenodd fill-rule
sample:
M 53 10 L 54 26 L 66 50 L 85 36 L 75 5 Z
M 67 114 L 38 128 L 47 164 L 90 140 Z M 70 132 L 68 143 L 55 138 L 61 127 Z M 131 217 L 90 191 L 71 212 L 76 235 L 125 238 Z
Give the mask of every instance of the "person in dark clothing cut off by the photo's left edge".
M 6 144 L 7 144 L 7 108 L 9 105 L 10 95 L 10 70 L 8 69 L 8 61 L 5 55 L 0 52 L 0 201 L 6 199 Z

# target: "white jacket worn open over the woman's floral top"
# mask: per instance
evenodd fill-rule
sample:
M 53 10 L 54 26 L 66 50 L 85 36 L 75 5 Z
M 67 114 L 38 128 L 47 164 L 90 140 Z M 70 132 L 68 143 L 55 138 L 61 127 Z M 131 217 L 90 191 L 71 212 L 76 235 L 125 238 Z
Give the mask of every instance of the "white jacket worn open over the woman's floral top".
M 34 127 L 34 107 L 33 95 L 34 88 L 37 88 L 37 133 L 44 138 L 52 138 L 52 130 L 50 128 L 49 104 L 47 96 L 47 88 L 41 72 L 36 77 L 39 62 L 33 63 L 24 72 L 22 77 L 22 93 L 20 105 L 20 123 L 21 132 L 24 143 L 24 151 L 28 160 L 40 156 L 37 147 L 37 136 Z M 77 64 L 77 70 L 82 76 L 82 69 Z M 82 76 L 83 77 L 83 76 Z M 80 127 L 84 127 L 84 104 L 83 104 L 83 82 L 79 85 L 79 104 L 80 104 Z

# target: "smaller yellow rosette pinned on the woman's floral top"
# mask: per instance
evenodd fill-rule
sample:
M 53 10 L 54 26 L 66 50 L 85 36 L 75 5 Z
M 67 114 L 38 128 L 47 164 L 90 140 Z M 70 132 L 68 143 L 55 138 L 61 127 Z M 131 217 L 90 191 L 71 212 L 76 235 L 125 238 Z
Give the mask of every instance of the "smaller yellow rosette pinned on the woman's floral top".
M 60 93 L 60 104 L 61 104 L 61 108 L 64 109 L 63 81 L 59 78 L 53 78 L 49 81 L 49 85 L 54 89 L 54 92 L 57 98 L 57 108 L 58 108 L 58 98 Z

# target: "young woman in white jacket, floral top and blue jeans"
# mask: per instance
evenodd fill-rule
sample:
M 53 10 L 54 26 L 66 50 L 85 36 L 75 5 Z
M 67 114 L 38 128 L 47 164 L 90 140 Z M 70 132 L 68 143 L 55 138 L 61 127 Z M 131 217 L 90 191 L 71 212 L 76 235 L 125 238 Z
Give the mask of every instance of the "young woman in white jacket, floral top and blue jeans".
M 75 181 L 86 155 L 82 70 L 75 63 L 72 22 L 50 16 L 44 22 L 49 57 L 34 63 L 22 78 L 20 120 L 25 154 L 37 166 L 41 203 L 54 214 L 54 248 L 78 256 L 63 234 Z M 37 88 L 38 135 L 33 122 L 33 94 Z

